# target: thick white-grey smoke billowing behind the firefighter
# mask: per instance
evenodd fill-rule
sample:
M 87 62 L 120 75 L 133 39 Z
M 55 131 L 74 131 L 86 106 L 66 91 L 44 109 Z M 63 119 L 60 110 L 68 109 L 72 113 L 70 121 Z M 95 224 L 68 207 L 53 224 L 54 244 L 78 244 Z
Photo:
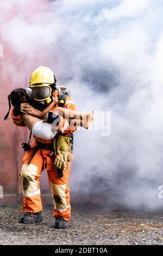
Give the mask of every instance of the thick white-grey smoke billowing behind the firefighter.
M 15 62 L 1 65 L 13 84 L 47 65 L 79 111 L 111 111 L 109 137 L 91 130 L 74 135 L 71 193 L 101 197 L 105 205 L 161 208 L 162 1 L 3 0 L 0 6 L 4 48 L 15 54 Z

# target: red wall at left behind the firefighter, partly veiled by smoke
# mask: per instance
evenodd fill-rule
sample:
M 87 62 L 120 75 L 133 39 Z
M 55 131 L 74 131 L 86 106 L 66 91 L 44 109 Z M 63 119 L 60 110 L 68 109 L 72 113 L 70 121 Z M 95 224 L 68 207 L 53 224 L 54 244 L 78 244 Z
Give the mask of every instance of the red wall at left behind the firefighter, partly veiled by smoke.
M 4 192 L 4 198 L 0 197 L 0 206 L 14 205 L 21 200 L 18 176 L 24 154 L 21 143 L 28 139 L 26 128 L 17 127 L 11 119 L 3 120 L 4 115 L 8 112 L 7 97 L 15 88 L 26 88 L 32 71 L 40 65 L 48 65 L 51 56 L 45 50 L 48 47 L 41 41 L 42 33 L 39 34 L 37 30 L 34 33 L 32 30 L 32 34 L 26 34 L 26 29 L 35 25 L 37 15 L 42 15 L 42 13 L 47 15 L 46 4 L 48 1 L 30 0 L 22 1 L 21 4 L 20 2 L 4 3 L 5 1 L 2 5 L 3 8 L 0 9 L 0 44 L 3 45 L 3 57 L 0 54 L 0 186 L 3 186 Z M 17 24 L 18 29 L 16 29 L 16 25 L 12 27 L 12 22 Z M 40 19 L 40 22 L 42 22 L 43 28 L 44 21 Z M 23 29 L 20 29 L 22 26 Z M 49 193 L 46 172 L 43 172 L 40 183 L 45 202 L 52 203 L 52 200 L 46 196 Z

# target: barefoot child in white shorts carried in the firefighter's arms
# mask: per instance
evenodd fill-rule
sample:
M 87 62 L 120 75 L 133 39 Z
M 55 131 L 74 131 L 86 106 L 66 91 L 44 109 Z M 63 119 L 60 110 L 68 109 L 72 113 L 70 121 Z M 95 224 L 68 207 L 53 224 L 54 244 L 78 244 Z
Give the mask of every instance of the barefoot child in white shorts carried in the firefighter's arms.
M 14 107 L 14 116 L 20 114 L 21 103 L 26 103 L 26 108 L 21 112 L 24 124 L 36 137 L 50 140 L 57 135 L 58 131 L 64 133 L 68 126 L 82 126 L 85 129 L 89 129 L 90 124 L 93 121 L 94 111 L 90 113 L 79 113 L 70 109 L 56 107 L 52 111 L 54 105 L 58 103 L 58 97 L 53 97 L 53 102 L 48 105 L 42 112 L 34 108 L 30 104 L 32 103 L 26 90 L 23 88 L 12 90 L 8 96 L 9 111 L 5 115 L 4 120 L 8 118 L 11 104 Z M 11 102 L 11 103 L 10 103 Z M 61 127 L 64 118 L 67 120 L 64 124 L 64 129 Z M 53 123 L 54 122 L 54 123 Z M 52 124 L 53 123 L 53 124 Z

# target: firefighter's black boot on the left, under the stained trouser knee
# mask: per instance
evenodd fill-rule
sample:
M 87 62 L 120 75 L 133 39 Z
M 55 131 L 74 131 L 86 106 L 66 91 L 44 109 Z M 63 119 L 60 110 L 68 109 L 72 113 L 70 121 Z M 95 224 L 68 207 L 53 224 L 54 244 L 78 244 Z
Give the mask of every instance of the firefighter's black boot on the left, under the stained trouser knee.
M 25 212 L 18 221 L 19 223 L 23 224 L 33 224 L 33 223 L 39 223 L 42 222 L 42 211 L 36 212 L 33 214 L 32 212 Z

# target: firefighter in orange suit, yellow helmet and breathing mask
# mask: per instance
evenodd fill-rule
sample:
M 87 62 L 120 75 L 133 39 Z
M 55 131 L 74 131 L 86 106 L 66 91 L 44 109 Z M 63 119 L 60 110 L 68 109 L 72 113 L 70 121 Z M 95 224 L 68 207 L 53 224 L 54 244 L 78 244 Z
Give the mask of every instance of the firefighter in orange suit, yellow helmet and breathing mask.
M 29 87 L 32 88 L 33 106 L 37 109 L 47 107 L 52 101 L 52 96 L 60 95 L 56 87 L 56 80 L 53 71 L 45 66 L 40 66 L 34 70 L 30 77 Z M 61 99 L 62 107 L 76 111 L 73 100 L 66 95 L 65 99 Z M 59 101 L 59 102 L 60 102 Z M 57 107 L 59 102 L 54 106 Z M 25 126 L 21 118 L 21 114 L 16 117 L 11 112 L 11 117 L 17 126 Z M 67 125 L 66 119 L 63 119 L 62 125 Z M 69 138 L 76 131 L 76 127 L 68 124 L 68 129 L 64 134 L 60 135 Z M 53 139 L 45 141 L 35 137 L 30 149 L 23 157 L 23 165 L 21 169 L 21 185 L 23 192 L 23 211 L 19 222 L 31 224 L 42 222 L 42 203 L 40 195 L 39 178 L 41 172 L 47 169 L 49 184 L 51 186 L 52 198 L 54 202 L 55 228 L 65 228 L 66 222 L 70 220 L 70 190 L 68 188 L 68 178 L 70 175 L 71 162 L 67 162 L 67 168 L 62 170 L 60 175 L 58 168 L 54 167 L 54 156 L 50 156 L 53 152 Z

